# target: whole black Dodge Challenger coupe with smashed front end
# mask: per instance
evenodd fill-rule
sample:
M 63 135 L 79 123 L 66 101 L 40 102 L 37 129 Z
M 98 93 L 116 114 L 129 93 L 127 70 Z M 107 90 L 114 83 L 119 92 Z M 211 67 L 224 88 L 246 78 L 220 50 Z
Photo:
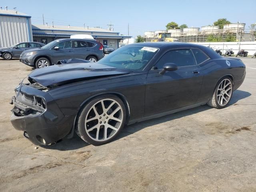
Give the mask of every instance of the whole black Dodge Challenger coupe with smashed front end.
M 127 124 L 204 104 L 224 108 L 245 74 L 240 59 L 205 46 L 130 44 L 96 63 L 71 59 L 34 70 L 15 89 L 11 122 L 37 145 L 74 132 L 105 144 Z

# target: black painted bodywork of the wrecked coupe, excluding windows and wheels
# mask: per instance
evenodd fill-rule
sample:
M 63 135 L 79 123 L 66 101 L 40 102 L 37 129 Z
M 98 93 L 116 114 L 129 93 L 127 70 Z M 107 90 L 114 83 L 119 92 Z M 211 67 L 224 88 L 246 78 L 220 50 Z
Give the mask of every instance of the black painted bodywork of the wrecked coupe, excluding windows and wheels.
M 232 78 L 234 90 L 245 78 L 245 66 L 240 59 L 223 58 L 204 46 L 170 42 L 137 43 L 127 46 L 153 47 L 159 51 L 144 69 L 139 71 L 106 66 L 100 64 L 100 61 L 91 65 L 79 60 L 73 63 L 76 62 L 73 60 L 71 64 L 50 66 L 32 72 L 28 78 L 30 84 L 23 85 L 16 91 L 20 89 L 21 93 L 44 98 L 47 107 L 43 113 L 30 117 L 30 120 L 26 116 L 17 118 L 13 115 L 11 121 L 14 127 L 28 132 L 39 120 L 40 130 L 30 134 L 33 138 L 36 132 L 40 137 L 44 134 L 43 138 L 46 144 L 49 144 L 63 138 L 72 130 L 81 107 L 95 96 L 115 94 L 120 97 L 127 109 L 126 124 L 131 124 L 206 104 L 217 82 L 224 76 Z M 184 48 L 202 50 L 208 59 L 194 66 L 179 67 L 176 71 L 159 74 L 161 69 L 154 68 L 156 62 L 169 50 Z M 39 86 L 33 88 L 34 84 Z M 21 128 L 19 124 L 24 126 Z M 65 124 L 64 130 L 58 130 L 58 126 L 62 124 Z M 48 128 L 52 126 L 55 128 L 52 134 L 54 138 L 48 136 Z M 47 134 L 43 129 L 46 129 Z M 35 144 L 42 144 L 38 139 L 30 140 Z

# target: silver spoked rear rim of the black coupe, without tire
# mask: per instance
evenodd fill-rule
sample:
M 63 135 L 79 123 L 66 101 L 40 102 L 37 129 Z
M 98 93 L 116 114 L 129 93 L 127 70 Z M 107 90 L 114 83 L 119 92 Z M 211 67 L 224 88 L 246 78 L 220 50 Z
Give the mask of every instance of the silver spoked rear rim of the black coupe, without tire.
M 217 90 L 217 102 L 220 106 L 226 105 L 232 96 L 232 82 L 229 79 L 224 79 L 220 82 Z

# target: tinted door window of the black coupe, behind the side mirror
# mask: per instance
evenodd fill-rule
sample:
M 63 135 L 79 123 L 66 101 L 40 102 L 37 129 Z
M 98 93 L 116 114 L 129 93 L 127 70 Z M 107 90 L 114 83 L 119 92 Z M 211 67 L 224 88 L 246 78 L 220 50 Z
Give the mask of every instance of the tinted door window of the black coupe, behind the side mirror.
M 184 67 L 196 65 L 196 60 L 194 58 L 192 50 L 179 49 L 166 52 L 156 63 L 155 67 L 157 69 L 162 69 L 164 68 L 164 64 L 166 63 L 174 63 L 178 67 Z

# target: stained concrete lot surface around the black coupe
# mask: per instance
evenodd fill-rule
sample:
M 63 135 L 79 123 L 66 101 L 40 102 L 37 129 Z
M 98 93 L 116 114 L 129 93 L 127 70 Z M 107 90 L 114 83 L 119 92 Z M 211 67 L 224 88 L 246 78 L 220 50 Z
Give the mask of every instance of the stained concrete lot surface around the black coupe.
M 10 123 L 14 88 L 32 68 L 0 59 L 0 191 L 256 191 L 256 58 L 230 105 L 126 126 L 108 144 L 78 136 L 35 146 Z

